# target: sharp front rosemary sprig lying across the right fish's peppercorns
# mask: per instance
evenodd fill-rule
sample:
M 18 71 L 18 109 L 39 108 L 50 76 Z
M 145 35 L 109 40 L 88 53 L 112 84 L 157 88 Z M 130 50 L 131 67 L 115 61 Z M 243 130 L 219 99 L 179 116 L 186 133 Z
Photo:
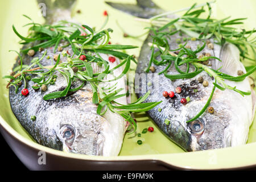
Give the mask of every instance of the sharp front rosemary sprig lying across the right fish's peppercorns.
M 214 94 L 214 91 L 215 91 L 216 87 L 220 90 L 225 90 L 225 89 L 234 90 L 235 92 L 240 93 L 242 96 L 250 95 L 251 94 L 250 91 L 244 92 L 242 90 L 237 89 L 236 86 L 232 87 L 232 86 L 226 84 L 225 80 L 230 80 L 230 81 L 235 81 L 235 82 L 243 81 L 247 76 L 251 75 L 252 73 L 254 73 L 256 71 L 256 66 L 254 65 L 253 67 L 251 67 L 247 71 L 247 73 L 245 73 L 242 76 L 234 77 L 234 76 L 226 75 L 225 73 L 214 70 L 212 68 L 209 68 L 207 65 L 202 64 L 201 63 L 202 61 L 212 59 L 212 58 L 216 59 L 216 61 L 221 61 L 221 60 L 217 59 L 217 57 L 211 57 L 211 56 L 209 56 L 209 57 L 204 56 L 203 58 L 198 59 L 195 56 L 195 53 L 199 49 L 201 49 L 201 47 L 198 48 L 196 51 L 191 52 L 191 49 L 188 51 L 188 50 L 185 50 L 184 47 L 183 47 L 183 48 L 180 49 L 179 55 L 175 55 L 174 53 L 172 53 L 172 55 L 167 54 L 167 55 L 161 56 L 163 60 L 168 60 L 170 62 L 171 61 L 175 62 L 175 65 L 176 65 L 175 68 L 180 73 L 178 75 L 168 75 L 167 74 L 167 69 L 165 69 L 165 72 L 163 72 L 163 74 L 164 74 L 165 77 L 169 78 L 170 80 L 193 78 L 193 77 L 199 75 L 199 73 L 201 73 L 202 71 L 207 72 L 209 76 L 212 76 L 215 79 L 215 82 L 213 83 L 213 90 L 212 90 L 212 93 L 209 96 L 209 99 L 208 99 L 207 103 L 205 104 L 203 109 L 195 117 L 193 117 L 192 119 L 189 119 L 187 122 L 194 121 L 195 119 L 199 118 L 205 112 L 205 110 L 207 110 L 207 107 L 209 106 L 210 101 L 212 100 L 212 97 L 213 97 L 213 94 Z M 181 57 L 181 56 L 184 56 L 184 55 L 186 55 L 187 57 Z M 193 67 L 195 67 L 195 71 L 188 72 L 189 71 L 189 64 L 188 63 L 193 65 Z M 180 72 L 179 71 L 178 66 L 183 65 L 183 64 L 187 64 L 187 68 L 188 68 L 187 72 Z M 168 64 L 166 68 L 168 68 L 168 67 L 170 67 L 170 64 Z

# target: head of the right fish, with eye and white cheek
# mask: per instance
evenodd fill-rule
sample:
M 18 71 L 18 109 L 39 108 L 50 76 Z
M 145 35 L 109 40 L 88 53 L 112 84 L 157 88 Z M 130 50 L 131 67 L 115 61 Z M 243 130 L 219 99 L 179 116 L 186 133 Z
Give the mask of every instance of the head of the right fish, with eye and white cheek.
M 189 103 L 187 118 L 195 117 L 207 99 Z M 251 123 L 250 96 L 242 97 L 233 90 L 216 90 L 209 107 L 213 110 L 207 109 L 195 121 L 187 123 L 189 150 L 210 150 L 246 143 Z

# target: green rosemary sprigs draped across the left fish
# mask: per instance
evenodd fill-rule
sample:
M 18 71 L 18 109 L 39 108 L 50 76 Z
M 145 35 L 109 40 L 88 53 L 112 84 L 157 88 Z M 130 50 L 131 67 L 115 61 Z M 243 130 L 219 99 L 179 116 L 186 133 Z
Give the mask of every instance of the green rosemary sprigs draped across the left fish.
M 105 24 L 106 22 L 104 23 L 104 26 Z M 125 118 L 126 121 L 133 125 L 135 130 L 137 129 L 137 125 L 134 119 L 131 117 L 131 113 L 147 111 L 160 104 L 160 102 L 141 103 L 146 100 L 150 94 L 150 92 L 148 92 L 145 94 L 145 96 L 139 98 L 134 103 L 122 105 L 118 102 L 115 102 L 114 100 L 126 96 L 126 94 L 119 94 L 123 89 L 116 89 L 116 84 L 114 86 L 109 86 L 108 88 L 106 88 L 106 86 L 101 86 L 102 83 L 112 82 L 122 78 L 129 71 L 131 61 L 136 63 L 133 56 L 116 51 L 122 49 L 137 48 L 136 46 L 109 45 L 109 32 L 112 32 L 112 29 L 108 28 L 106 30 L 100 30 L 96 33 L 89 26 L 80 26 L 79 24 L 67 21 L 61 21 L 55 25 L 41 25 L 32 22 L 26 24 L 26 26 L 31 26 L 29 29 L 31 33 L 26 38 L 20 35 L 13 26 L 15 34 L 18 35 L 20 39 L 22 39 L 22 42 L 20 42 L 21 44 L 34 43 L 33 45 L 35 45 L 34 47 L 30 47 L 28 49 L 22 49 L 21 53 L 25 54 L 30 49 L 38 51 L 39 48 L 48 48 L 51 46 L 54 46 L 54 50 L 56 51 L 60 41 L 64 40 L 68 44 L 62 47 L 64 48 L 71 46 L 74 54 L 73 56 L 70 56 L 64 52 L 63 55 L 67 57 L 67 62 L 60 63 L 59 55 L 55 64 L 43 66 L 40 64 L 40 61 L 46 57 L 47 50 L 44 51 L 42 57 L 34 57 L 34 59 L 31 60 L 30 65 L 24 65 L 22 62 L 22 56 L 20 53 L 15 51 L 20 57 L 21 64 L 13 69 L 15 75 L 3 77 L 11 79 L 7 85 L 8 88 L 10 86 L 15 86 L 15 90 L 18 92 L 20 81 L 24 82 L 24 88 L 26 88 L 27 80 L 25 75 L 33 76 L 31 81 L 37 84 L 36 86 L 32 86 L 34 89 L 39 89 L 42 85 L 52 85 L 55 84 L 57 79 L 56 72 L 59 72 L 67 82 L 66 88 L 62 91 L 44 95 L 44 100 L 52 100 L 55 98 L 65 97 L 69 92 L 75 92 L 81 89 L 85 85 L 85 82 L 88 82 L 92 87 L 92 102 L 98 105 L 97 114 L 102 115 L 105 114 L 107 110 L 110 110 Z M 81 36 L 81 32 L 86 32 L 86 35 Z M 109 69 L 109 63 L 102 59 L 98 53 L 111 54 L 123 61 L 116 67 Z M 81 55 L 86 56 L 85 61 L 79 59 Z M 104 67 L 104 71 L 93 73 L 92 63 L 97 63 L 100 67 Z M 106 80 L 106 77 L 109 74 L 112 74 L 115 69 L 118 69 L 122 66 L 125 68 L 123 69 L 121 75 L 116 76 L 111 80 Z M 77 88 L 72 88 L 72 82 L 77 80 L 81 81 L 81 85 Z

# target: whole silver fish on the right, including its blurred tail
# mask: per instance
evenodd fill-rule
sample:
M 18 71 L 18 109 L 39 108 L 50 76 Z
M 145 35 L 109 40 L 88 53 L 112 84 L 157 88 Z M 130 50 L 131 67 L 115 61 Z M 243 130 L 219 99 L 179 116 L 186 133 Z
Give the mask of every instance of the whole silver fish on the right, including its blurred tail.
M 108 4 L 141 18 L 151 18 L 159 14 L 159 7 L 155 8 L 154 2 L 150 0 L 143 2 L 148 5 L 151 4 L 151 6 L 148 6 L 150 14 L 147 11 L 136 10 L 136 6 L 143 9 L 141 1 L 137 1 L 137 5 L 131 5 L 127 9 L 125 5 L 121 8 L 121 5 L 118 3 Z M 137 13 L 133 13 L 134 11 L 137 11 Z M 177 18 L 174 14 L 170 14 L 170 16 L 174 19 L 175 17 Z M 138 94 L 138 97 L 141 97 L 143 93 L 150 90 L 150 96 L 148 96 L 145 102 L 162 101 L 161 104 L 147 112 L 159 129 L 185 151 L 209 150 L 245 144 L 255 112 L 255 93 L 254 90 L 251 90 L 249 80 L 246 78 L 241 82 L 225 81 L 225 83 L 232 87 L 236 86 L 237 89 L 245 92 L 251 90 L 250 96 L 241 96 L 241 94 L 230 89 L 222 91 L 216 88 L 209 105 L 213 107 L 213 113 L 205 111 L 198 119 L 187 123 L 207 103 L 213 90 L 214 79 L 203 71 L 192 78 L 170 80 L 163 73 L 158 75 L 158 73 L 164 71 L 167 65 L 154 65 L 154 63 L 152 63 L 152 66 L 155 68 L 154 74 L 152 72 L 147 74 L 145 69 L 148 67 L 152 52 L 150 46 L 150 43 L 152 44 L 151 35 L 154 35 L 154 32 L 149 32 L 138 58 L 137 74 L 135 75 L 135 93 Z M 189 40 L 187 45 L 191 46 L 192 51 L 195 51 L 198 45 L 203 45 L 202 41 L 192 41 L 185 34 L 180 35 L 177 32 L 168 39 L 170 49 L 179 47 L 176 40 L 182 41 L 183 38 Z M 213 43 L 213 40 L 210 40 L 210 42 Z M 221 59 L 221 61 L 210 59 L 208 63 L 209 68 L 220 69 L 222 73 L 231 76 L 238 76 L 238 71 L 246 73 L 245 67 L 240 62 L 240 52 L 236 46 L 230 43 L 226 43 L 222 47 L 217 44 L 213 44 L 213 46 L 214 49 L 205 46 L 201 52 L 197 53 L 197 57 L 204 52 Z M 155 52 L 158 50 L 158 48 L 155 48 Z M 158 56 L 156 60 L 160 61 L 162 59 Z M 179 68 L 183 72 L 187 70 L 185 64 Z M 189 68 L 189 72 L 195 71 L 191 64 Z M 170 68 L 167 69 L 167 74 L 180 74 L 174 66 L 174 61 L 172 61 Z M 199 82 L 199 77 L 207 80 L 208 86 L 204 86 Z M 164 91 L 175 92 L 177 87 L 181 88 L 181 93 L 175 93 L 173 98 L 163 97 L 162 93 Z M 190 101 L 186 105 L 181 104 L 181 99 L 187 97 L 189 97 Z

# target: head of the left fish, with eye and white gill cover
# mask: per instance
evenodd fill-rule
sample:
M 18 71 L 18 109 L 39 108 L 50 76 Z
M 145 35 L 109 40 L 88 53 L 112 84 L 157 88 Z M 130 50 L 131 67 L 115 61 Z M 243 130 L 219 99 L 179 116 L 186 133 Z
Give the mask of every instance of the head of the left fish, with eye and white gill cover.
M 64 152 L 85 155 L 118 155 L 125 132 L 124 119 L 107 110 L 97 114 L 92 92 L 79 90 L 55 102 L 49 115 Z

